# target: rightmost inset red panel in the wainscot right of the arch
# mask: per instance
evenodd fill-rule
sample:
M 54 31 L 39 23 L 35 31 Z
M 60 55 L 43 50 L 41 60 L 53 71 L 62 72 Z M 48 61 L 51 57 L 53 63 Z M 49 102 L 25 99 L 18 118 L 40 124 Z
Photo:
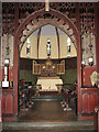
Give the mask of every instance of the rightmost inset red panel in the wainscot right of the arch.
M 94 109 L 97 105 L 97 94 L 91 94 L 89 101 L 90 101 L 90 112 L 94 112 Z

